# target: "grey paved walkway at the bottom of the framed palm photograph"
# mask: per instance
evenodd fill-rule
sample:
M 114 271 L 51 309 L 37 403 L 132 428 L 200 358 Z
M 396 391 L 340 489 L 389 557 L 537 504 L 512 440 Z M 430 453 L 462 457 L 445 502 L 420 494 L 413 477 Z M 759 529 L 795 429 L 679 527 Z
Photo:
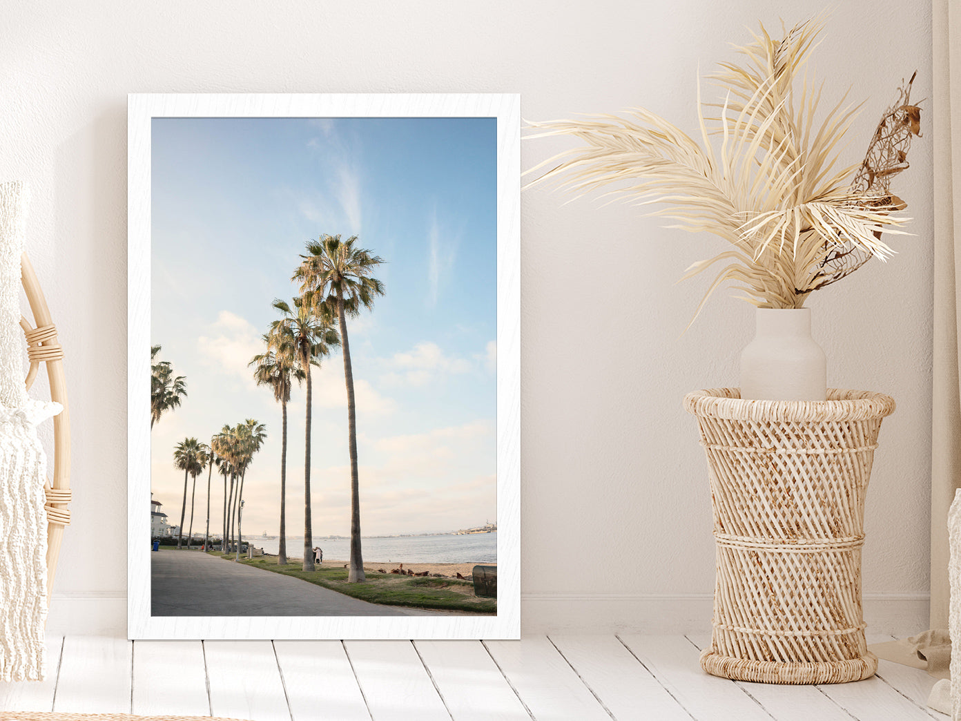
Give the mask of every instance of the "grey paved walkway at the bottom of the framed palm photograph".
M 151 552 L 154 616 L 424 616 L 436 611 L 378 606 L 307 581 L 200 551 Z

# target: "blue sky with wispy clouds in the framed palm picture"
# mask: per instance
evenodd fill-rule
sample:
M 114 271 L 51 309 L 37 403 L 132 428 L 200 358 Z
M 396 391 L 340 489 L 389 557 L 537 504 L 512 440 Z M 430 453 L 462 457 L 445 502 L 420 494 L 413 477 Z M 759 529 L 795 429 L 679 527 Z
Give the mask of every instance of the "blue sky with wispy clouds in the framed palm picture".
M 256 418 L 269 437 L 248 471 L 244 532 L 278 533 L 281 408 L 247 362 L 321 234 L 357 235 L 384 261 L 385 295 L 348 324 L 363 533 L 494 520 L 496 120 L 156 118 L 152 136 L 151 338 L 188 391 L 152 432 L 152 490 L 171 521 L 184 484 L 174 445 Z M 313 390 L 313 531 L 347 535 L 339 353 L 313 370 Z M 287 534 L 302 535 L 303 388 L 287 410 Z M 198 478 L 195 532 L 206 492 Z M 222 500 L 214 475 L 211 529 Z

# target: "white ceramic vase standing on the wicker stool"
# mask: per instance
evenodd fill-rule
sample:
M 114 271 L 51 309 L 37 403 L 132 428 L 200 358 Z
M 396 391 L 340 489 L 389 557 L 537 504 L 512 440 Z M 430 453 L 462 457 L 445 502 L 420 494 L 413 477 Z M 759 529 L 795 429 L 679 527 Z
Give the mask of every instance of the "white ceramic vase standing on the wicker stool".
M 756 310 L 754 339 L 741 353 L 741 397 L 824 401 L 827 358 L 811 337 L 811 310 Z

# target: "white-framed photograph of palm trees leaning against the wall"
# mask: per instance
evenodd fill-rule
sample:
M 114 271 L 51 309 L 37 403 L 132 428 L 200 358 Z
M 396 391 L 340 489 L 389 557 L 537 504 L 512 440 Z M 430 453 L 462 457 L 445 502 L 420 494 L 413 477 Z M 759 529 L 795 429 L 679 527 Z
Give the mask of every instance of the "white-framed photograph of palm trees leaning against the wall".
M 128 111 L 129 637 L 520 637 L 519 96 Z

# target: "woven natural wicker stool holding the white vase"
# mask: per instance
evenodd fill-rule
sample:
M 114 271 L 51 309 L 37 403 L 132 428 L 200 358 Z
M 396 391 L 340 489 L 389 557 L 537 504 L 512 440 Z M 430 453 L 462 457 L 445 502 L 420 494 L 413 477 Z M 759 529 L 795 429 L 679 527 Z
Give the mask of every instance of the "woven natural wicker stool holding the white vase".
M 874 675 L 861 609 L 864 496 L 886 395 L 745 401 L 737 388 L 690 393 L 707 453 L 717 583 L 714 676 L 842 684 Z

